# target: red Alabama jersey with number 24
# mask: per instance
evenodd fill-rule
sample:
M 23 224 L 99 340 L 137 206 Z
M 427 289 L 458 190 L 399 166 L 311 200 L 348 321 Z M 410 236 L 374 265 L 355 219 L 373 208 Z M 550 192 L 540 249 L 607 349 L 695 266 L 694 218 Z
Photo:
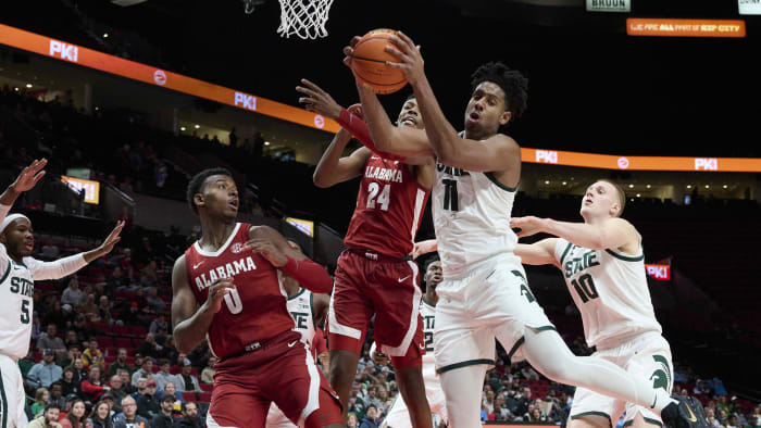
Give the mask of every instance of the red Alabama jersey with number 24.
M 371 154 L 344 243 L 399 259 L 411 254 L 429 194 L 406 164 Z

